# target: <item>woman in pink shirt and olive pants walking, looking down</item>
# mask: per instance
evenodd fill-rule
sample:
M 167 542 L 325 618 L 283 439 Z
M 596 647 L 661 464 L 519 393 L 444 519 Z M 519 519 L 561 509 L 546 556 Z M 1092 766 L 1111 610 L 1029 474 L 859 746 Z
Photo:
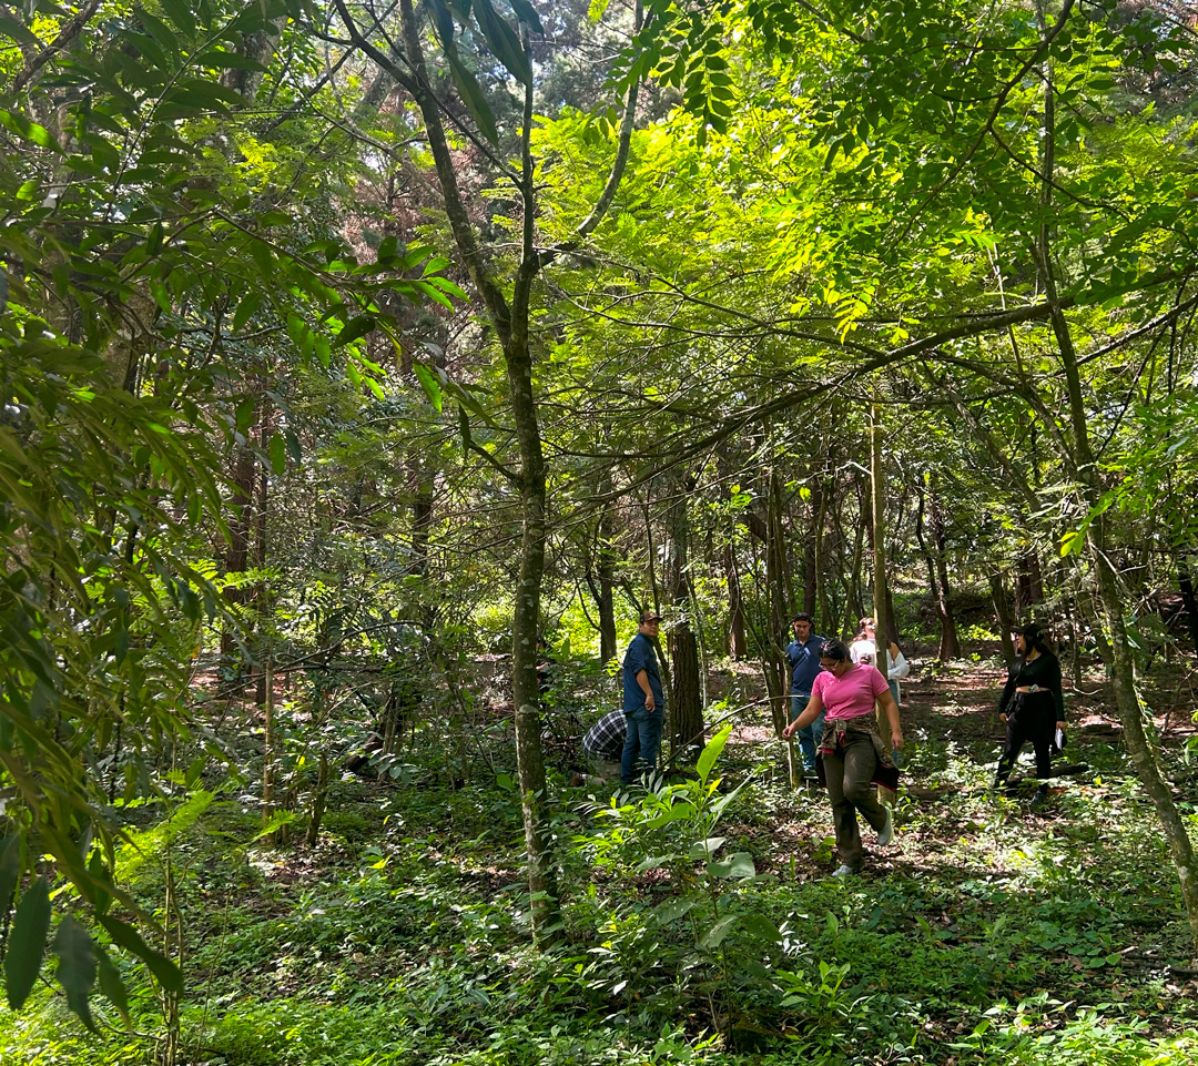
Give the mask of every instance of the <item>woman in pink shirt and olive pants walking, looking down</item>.
M 870 783 L 895 789 L 898 770 L 890 757 L 891 749 L 902 747 L 898 704 L 887 688 L 885 678 L 867 662 L 853 662 L 841 641 L 824 641 L 819 649 L 823 672 L 811 686 L 806 709 L 783 731 L 789 739 L 804 726 L 827 714 L 819 740 L 821 783 L 828 789 L 833 823 L 836 830 L 836 854 L 840 867 L 835 877 L 860 873 L 861 832 L 857 824 L 860 812 L 885 846 L 894 838 L 894 814 L 870 792 Z M 882 740 L 873 704 L 882 704 L 890 725 L 890 743 Z

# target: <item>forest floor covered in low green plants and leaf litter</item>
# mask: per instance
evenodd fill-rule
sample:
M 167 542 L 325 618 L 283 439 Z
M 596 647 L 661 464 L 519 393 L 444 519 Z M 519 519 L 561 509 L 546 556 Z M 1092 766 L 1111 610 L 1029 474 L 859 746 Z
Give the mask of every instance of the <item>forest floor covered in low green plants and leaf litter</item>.
M 208 785 L 170 855 L 188 944 L 180 1061 L 1192 1064 L 1193 946 L 1101 673 L 1066 697 L 1066 759 L 1087 769 L 1033 808 L 1030 783 L 987 788 L 997 662 L 915 665 L 897 835 L 878 848 L 866 830 L 866 872 L 843 883 L 829 877 L 827 799 L 789 788 L 760 705 L 733 714 L 710 792 L 691 780 L 588 798 L 564 786 L 563 756 L 562 926 L 547 951 L 532 945 L 502 728 L 479 732 L 467 781 L 420 750 L 395 780 L 343 775 L 313 849 L 246 843 L 260 825 L 250 786 Z M 1192 824 L 1194 674 L 1182 660 L 1143 679 Z M 750 704 L 756 684 L 742 666 L 710 678 Z M 585 692 L 569 699 L 593 719 Z M 436 738 L 417 739 L 431 751 Z M 145 864 L 134 884 L 147 906 L 161 870 Z M 0 1014 L 0 1062 L 151 1061 L 138 1034 L 156 1011 L 144 986 L 134 1031 L 101 1016 L 96 1037 L 44 991 Z

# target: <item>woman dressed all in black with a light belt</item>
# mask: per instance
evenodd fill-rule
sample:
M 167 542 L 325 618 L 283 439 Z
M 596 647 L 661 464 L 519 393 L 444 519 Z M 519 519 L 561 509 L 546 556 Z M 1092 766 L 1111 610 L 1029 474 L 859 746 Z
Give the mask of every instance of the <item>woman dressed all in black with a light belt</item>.
M 1008 672 L 1006 685 L 998 701 L 999 721 L 1006 725 L 1006 744 L 998 761 L 994 788 L 1006 787 L 1015 761 L 1030 740 L 1036 752 L 1036 777 L 1040 781 L 1031 802 L 1039 806 L 1048 797 L 1054 734 L 1060 731 L 1064 737 L 1065 731 L 1060 662 L 1034 622 L 1016 630 L 1015 652 L 1019 658 Z

